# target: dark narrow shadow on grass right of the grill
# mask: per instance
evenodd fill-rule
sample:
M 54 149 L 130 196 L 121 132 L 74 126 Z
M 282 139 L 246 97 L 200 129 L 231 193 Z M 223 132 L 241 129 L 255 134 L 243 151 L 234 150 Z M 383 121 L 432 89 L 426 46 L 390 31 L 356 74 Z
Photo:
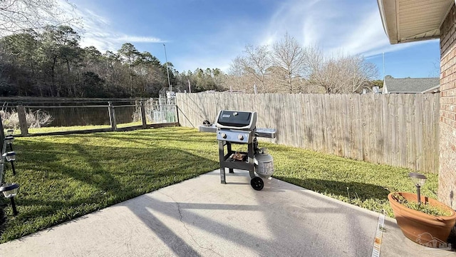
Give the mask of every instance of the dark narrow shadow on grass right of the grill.
M 331 193 L 336 196 L 345 196 L 347 198 L 359 198 L 361 201 L 366 201 L 368 199 L 387 201 L 388 193 L 390 193 L 390 191 L 385 188 L 370 183 L 327 181 L 316 178 L 302 179 L 286 176 L 274 177 L 296 186 L 302 186 L 311 191 Z

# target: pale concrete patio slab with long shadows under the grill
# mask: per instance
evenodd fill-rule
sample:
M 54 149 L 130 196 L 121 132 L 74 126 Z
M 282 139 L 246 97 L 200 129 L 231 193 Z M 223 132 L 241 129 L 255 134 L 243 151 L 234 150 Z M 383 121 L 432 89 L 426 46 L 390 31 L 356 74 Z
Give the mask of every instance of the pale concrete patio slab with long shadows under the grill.
M 2 256 L 372 256 L 378 213 L 247 171 L 162 188 L 0 245 Z M 20 200 L 19 200 L 20 201 Z M 456 256 L 385 218 L 380 256 Z

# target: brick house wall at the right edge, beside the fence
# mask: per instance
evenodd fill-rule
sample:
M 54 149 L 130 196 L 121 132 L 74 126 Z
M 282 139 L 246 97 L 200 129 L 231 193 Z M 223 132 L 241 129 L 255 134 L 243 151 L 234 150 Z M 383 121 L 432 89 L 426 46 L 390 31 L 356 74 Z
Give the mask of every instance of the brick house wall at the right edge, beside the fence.
M 440 27 L 439 200 L 456 209 L 456 8 Z

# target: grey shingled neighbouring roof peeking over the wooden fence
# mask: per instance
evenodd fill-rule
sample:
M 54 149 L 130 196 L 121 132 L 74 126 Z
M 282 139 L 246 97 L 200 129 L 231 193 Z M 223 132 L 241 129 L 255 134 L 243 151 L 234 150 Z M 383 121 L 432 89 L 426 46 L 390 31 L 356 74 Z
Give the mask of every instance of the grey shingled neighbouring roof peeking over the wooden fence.
M 440 88 L 439 78 L 385 78 L 383 94 L 395 93 L 437 93 Z

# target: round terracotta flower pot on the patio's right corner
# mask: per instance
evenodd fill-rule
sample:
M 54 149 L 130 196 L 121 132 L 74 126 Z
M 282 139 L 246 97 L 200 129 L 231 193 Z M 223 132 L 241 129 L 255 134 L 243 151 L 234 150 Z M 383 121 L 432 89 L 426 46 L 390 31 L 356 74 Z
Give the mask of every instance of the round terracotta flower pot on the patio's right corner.
M 399 192 L 399 194 L 407 201 L 416 201 L 417 198 L 415 193 Z M 435 199 L 421 196 L 422 203 L 440 206 L 451 211 L 450 216 L 432 216 L 403 206 L 393 199 L 393 193 L 388 194 L 388 200 L 404 236 L 423 246 L 433 248 L 447 247 L 447 238 L 456 222 L 456 212 L 452 208 Z

